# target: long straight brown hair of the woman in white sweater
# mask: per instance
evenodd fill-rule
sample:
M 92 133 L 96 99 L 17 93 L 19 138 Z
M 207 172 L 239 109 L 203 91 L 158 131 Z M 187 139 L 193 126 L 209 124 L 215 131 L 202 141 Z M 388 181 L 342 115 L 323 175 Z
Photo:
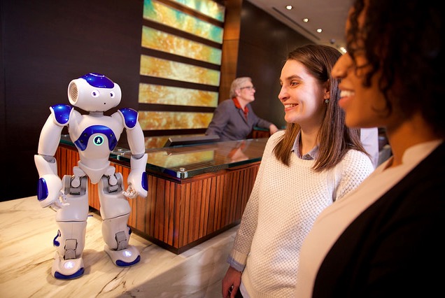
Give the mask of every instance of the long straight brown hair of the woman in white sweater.
M 328 82 L 330 87 L 330 101 L 318 132 L 320 146 L 318 157 L 313 166 L 314 171 L 333 168 L 341 162 L 350 149 L 360 150 L 367 154 L 360 141 L 360 129 L 346 127 L 345 113 L 338 105 L 339 80 L 332 78 L 331 71 L 340 56 L 341 53 L 329 45 L 308 44 L 292 50 L 287 57 L 287 60 L 296 60 L 302 63 L 320 85 Z M 288 123 L 285 134 L 274 148 L 274 155 L 283 164 L 289 165 L 291 149 L 298 132 L 299 125 Z

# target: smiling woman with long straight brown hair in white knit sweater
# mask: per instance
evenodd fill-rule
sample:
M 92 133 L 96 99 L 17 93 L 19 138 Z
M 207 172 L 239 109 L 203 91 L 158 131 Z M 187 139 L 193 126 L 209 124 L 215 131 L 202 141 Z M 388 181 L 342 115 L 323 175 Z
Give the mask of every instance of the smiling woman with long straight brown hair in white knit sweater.
M 348 129 L 331 70 L 340 52 L 304 45 L 281 71 L 285 131 L 273 134 L 236 234 L 223 297 L 292 297 L 299 248 L 316 216 L 354 190 L 374 167 Z M 241 296 L 242 295 L 242 296 Z

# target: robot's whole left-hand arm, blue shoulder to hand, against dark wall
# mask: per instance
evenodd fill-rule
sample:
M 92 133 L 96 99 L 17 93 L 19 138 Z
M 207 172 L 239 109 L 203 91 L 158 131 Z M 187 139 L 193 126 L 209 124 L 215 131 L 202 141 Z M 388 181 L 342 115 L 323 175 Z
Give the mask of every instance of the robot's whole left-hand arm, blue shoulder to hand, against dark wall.
M 38 141 L 38 155 L 34 162 L 38 171 L 37 199 L 42 207 L 62 208 L 65 204 L 62 194 L 62 180 L 57 175 L 57 161 L 54 158 L 59 146 L 60 134 L 68 125 L 72 112 L 71 106 L 55 105 L 50 107 L 51 115 L 43 125 Z

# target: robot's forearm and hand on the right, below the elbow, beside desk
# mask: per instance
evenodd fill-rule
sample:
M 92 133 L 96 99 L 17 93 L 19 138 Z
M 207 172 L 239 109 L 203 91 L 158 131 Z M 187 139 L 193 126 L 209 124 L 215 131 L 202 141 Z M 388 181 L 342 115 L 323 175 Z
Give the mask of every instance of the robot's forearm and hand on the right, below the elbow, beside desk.
M 146 166 L 147 166 L 147 158 L 148 155 L 144 154 L 141 158 L 136 159 L 132 156 L 130 159 L 130 165 L 132 171 L 130 171 L 128 176 L 128 188 L 126 192 L 122 192 L 125 197 L 129 199 L 134 199 L 138 195 L 141 197 L 147 197 L 148 194 L 148 186 L 147 186 L 147 174 L 146 174 Z

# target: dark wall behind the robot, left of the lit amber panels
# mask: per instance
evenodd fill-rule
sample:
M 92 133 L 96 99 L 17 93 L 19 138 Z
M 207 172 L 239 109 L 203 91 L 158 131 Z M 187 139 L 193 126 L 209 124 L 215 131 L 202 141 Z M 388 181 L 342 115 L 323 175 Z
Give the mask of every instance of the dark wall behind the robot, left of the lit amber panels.
M 1 200 L 36 195 L 34 165 L 49 107 L 97 72 L 137 108 L 143 0 L 1 0 Z

